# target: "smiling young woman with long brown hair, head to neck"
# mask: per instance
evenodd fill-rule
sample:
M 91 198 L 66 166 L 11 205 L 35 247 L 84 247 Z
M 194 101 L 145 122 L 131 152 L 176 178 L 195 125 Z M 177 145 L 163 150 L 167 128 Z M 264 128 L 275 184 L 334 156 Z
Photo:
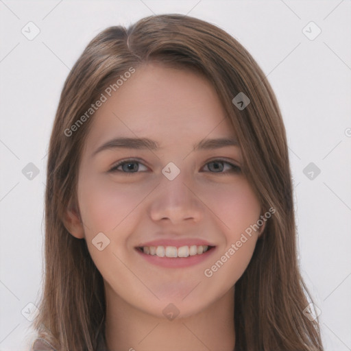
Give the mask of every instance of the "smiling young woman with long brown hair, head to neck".
M 33 350 L 322 351 L 292 191 L 276 97 L 237 40 L 178 14 L 104 30 L 51 134 Z

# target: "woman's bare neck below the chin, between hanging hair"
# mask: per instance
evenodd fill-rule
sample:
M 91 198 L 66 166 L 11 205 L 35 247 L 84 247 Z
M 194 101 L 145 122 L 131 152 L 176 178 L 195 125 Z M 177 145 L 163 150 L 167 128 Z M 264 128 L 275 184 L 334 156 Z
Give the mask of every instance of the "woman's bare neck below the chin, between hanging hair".
M 234 287 L 199 313 L 169 320 L 135 308 L 106 285 L 106 343 L 109 351 L 232 351 Z

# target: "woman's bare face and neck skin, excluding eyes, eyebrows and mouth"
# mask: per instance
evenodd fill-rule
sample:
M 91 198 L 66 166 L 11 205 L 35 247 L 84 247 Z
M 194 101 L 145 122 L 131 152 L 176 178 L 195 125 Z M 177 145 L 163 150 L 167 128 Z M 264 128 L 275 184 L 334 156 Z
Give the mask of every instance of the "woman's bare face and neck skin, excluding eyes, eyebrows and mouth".
M 233 350 L 234 285 L 264 226 L 213 276 L 204 275 L 261 215 L 243 173 L 221 162 L 216 172 L 209 163 L 224 158 L 240 167 L 239 146 L 192 151 L 205 137 L 235 136 L 215 90 L 197 73 L 149 63 L 136 69 L 91 122 L 80 162 L 78 204 L 67 210 L 65 225 L 86 240 L 104 278 L 108 349 Z M 111 148 L 93 155 L 120 136 L 151 138 L 160 149 Z M 109 172 L 130 158 L 138 158 L 140 163 L 133 163 L 138 171 L 128 173 L 120 166 Z M 180 169 L 174 180 L 161 173 L 169 162 Z M 110 240 L 102 251 L 92 243 L 99 232 Z M 162 238 L 205 239 L 216 251 L 180 269 L 152 265 L 134 249 Z M 173 320 L 162 313 L 169 303 L 180 311 Z

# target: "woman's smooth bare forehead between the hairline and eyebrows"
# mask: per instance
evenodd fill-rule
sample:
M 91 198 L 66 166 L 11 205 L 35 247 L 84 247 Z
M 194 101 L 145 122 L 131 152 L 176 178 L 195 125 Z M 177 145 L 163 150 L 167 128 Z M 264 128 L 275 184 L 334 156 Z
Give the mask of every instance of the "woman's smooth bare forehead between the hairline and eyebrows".
M 94 144 L 116 135 L 150 137 L 160 144 L 234 136 L 213 86 L 189 69 L 140 66 L 106 98 L 88 136 Z

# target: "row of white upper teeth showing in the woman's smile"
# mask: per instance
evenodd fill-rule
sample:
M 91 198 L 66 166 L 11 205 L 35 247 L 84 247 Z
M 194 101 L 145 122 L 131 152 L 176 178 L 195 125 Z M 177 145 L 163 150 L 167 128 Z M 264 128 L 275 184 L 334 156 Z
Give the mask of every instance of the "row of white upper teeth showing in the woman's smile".
M 158 257 L 188 257 L 201 255 L 208 250 L 208 245 L 191 246 L 143 246 L 143 252 L 148 255 Z

